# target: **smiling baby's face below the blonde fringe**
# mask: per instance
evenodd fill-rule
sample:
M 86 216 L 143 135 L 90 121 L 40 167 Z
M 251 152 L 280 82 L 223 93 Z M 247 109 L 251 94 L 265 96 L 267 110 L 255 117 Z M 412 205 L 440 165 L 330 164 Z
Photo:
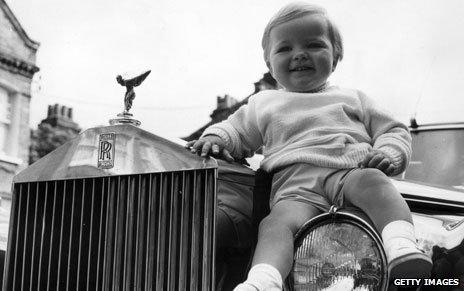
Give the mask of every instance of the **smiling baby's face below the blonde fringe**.
M 327 21 L 321 16 L 303 16 L 271 30 L 268 66 L 286 90 L 318 89 L 332 73 L 333 63 Z

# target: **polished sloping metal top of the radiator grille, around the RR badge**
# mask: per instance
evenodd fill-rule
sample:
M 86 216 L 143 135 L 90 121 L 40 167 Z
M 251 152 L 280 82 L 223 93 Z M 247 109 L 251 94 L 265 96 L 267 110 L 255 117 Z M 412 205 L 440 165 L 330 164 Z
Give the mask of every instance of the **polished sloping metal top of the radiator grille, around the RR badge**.
M 114 166 L 98 167 L 99 137 L 115 134 Z M 217 168 L 213 158 L 202 158 L 165 138 L 132 125 L 90 128 L 41 158 L 13 179 L 15 183 L 89 177 L 147 174 Z

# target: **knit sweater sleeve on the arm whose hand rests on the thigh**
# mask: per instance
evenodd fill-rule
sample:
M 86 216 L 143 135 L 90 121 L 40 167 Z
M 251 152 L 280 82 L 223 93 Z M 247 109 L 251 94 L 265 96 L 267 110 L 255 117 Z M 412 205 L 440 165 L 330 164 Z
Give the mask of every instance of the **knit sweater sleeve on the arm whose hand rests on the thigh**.
M 359 92 L 364 113 L 363 122 L 373 141 L 373 148 L 384 152 L 393 162 L 398 175 L 411 159 L 411 135 L 408 127 L 379 109 L 364 93 Z

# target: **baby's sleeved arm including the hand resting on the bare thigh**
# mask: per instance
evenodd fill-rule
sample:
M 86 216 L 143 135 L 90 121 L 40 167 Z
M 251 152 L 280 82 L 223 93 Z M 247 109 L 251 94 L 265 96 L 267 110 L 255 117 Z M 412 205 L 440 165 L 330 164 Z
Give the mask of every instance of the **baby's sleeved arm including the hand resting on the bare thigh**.
M 411 135 L 406 125 L 360 93 L 364 124 L 373 140 L 373 150 L 360 163 L 362 167 L 377 168 L 387 175 L 403 172 L 411 158 Z

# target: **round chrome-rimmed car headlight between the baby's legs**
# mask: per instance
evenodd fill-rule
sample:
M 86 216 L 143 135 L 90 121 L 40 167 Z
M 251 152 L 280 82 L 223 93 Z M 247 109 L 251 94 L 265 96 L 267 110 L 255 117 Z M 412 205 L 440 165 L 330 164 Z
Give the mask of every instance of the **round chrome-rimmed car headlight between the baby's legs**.
M 379 236 L 347 212 L 322 214 L 302 227 L 291 275 L 294 290 L 386 290 L 388 283 Z

